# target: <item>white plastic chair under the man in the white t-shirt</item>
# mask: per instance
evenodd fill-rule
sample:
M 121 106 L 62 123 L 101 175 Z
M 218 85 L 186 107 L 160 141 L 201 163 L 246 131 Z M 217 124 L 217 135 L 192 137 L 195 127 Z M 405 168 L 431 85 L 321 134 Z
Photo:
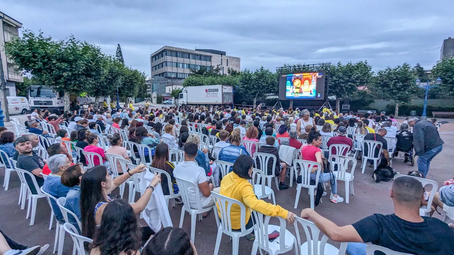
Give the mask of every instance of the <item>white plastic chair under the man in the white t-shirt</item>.
M 180 190 L 181 198 L 183 199 L 183 207 L 181 208 L 180 226 L 179 227 L 180 228 L 183 227 L 184 212 L 188 212 L 189 215 L 191 215 L 191 241 L 192 241 L 192 243 L 194 243 L 197 214 L 199 214 L 199 221 L 202 221 L 203 212 L 208 212 L 212 209 L 213 210 L 217 210 L 217 209 L 216 209 L 216 207 L 202 208 L 202 204 L 200 202 L 200 190 L 199 190 L 197 184 L 192 183 L 188 180 L 178 178 L 176 176 L 175 176 L 175 179 L 177 180 L 178 189 Z M 192 205 L 192 207 L 196 207 L 196 208 L 191 208 L 191 203 L 189 202 L 188 190 L 191 188 L 195 191 L 194 195 L 196 198 L 196 204 Z

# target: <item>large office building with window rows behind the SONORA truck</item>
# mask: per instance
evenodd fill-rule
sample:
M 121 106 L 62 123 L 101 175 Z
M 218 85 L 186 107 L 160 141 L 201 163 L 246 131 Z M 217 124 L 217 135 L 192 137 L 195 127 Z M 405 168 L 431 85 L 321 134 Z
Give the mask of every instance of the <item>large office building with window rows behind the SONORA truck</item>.
M 198 70 L 219 65 L 221 73 L 227 74 L 229 68 L 240 71 L 240 58 L 227 56 L 224 51 L 212 49 L 184 49 L 164 46 L 150 56 L 151 75 L 168 78 L 184 79 L 191 72 L 189 69 Z

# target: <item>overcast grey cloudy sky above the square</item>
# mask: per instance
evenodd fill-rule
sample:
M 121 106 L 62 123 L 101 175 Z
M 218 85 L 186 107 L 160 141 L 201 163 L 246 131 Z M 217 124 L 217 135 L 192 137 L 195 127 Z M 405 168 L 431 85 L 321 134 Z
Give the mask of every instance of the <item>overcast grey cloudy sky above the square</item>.
M 453 0 L 0 0 L 0 10 L 108 54 L 120 43 L 125 63 L 147 75 L 164 45 L 222 50 L 242 69 L 365 59 L 375 71 L 404 62 L 428 69 L 454 37 Z

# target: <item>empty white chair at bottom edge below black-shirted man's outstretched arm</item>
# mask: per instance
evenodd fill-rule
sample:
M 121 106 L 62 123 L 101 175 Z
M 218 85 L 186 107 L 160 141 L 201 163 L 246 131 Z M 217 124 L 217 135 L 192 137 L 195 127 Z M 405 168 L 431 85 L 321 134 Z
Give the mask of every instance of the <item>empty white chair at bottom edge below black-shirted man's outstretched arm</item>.
M 307 240 L 302 244 L 298 223 L 303 227 Z M 313 222 L 295 216 L 293 226 L 295 226 L 300 255 L 345 255 L 347 243 L 341 243 L 341 247 L 337 249 L 335 246 L 326 243 L 328 236 L 323 235 L 319 239 L 321 231 Z

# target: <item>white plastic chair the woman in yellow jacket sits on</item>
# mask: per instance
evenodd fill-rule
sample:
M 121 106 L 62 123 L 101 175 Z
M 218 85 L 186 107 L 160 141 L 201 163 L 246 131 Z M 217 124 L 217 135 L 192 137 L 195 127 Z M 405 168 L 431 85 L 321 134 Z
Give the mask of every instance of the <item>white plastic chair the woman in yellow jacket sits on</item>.
M 219 193 L 214 191 L 211 192 L 212 196 L 214 197 L 214 202 L 216 203 L 217 207 L 219 207 L 219 211 L 214 208 L 216 211 L 216 224 L 217 224 L 217 238 L 216 238 L 216 245 L 214 247 L 214 255 L 219 253 L 219 246 L 221 245 L 222 233 L 230 236 L 232 238 L 232 255 L 238 255 L 239 250 L 239 242 L 240 237 L 246 236 L 250 234 L 254 227 L 246 229 L 246 207 L 242 204 L 242 202 L 222 196 Z M 231 209 L 233 205 L 237 205 L 240 207 L 240 224 L 241 230 L 234 231 L 232 230 L 231 225 Z M 252 217 L 252 215 L 251 215 Z

